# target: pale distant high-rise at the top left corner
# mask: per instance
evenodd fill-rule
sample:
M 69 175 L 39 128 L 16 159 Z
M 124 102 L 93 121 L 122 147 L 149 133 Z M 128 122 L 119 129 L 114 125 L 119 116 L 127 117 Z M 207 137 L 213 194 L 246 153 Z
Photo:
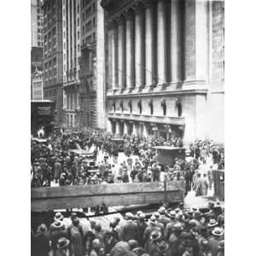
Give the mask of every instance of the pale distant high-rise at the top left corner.
M 43 47 L 44 20 L 41 0 L 31 0 L 32 47 Z

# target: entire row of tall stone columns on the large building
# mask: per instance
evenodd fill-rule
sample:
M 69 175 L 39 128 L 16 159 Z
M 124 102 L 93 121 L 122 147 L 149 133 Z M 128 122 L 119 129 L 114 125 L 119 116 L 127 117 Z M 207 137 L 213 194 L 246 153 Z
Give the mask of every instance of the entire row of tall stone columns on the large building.
M 156 4 L 156 12 L 154 11 Z M 177 0 L 171 6 L 171 57 L 167 65 L 166 1 L 144 0 L 108 22 L 109 89 L 140 88 L 167 83 L 167 67 L 172 82 L 181 79 L 181 11 Z M 157 24 L 156 31 L 154 24 Z M 157 49 L 155 60 L 155 49 Z M 156 62 L 156 65 L 154 65 Z

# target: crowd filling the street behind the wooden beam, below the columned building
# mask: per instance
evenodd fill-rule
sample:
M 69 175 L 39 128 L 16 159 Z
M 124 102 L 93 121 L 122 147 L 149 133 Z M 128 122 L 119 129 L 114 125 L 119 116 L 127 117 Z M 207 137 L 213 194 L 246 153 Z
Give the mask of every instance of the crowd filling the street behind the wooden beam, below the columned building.
M 210 140 L 196 140 L 189 146 L 189 160 L 176 159 L 174 166 L 162 166 L 153 146 L 182 147 L 181 138 L 166 141 L 162 137 L 122 137 L 125 159 L 118 163 L 120 144 L 113 135 L 96 129 L 63 131 L 57 126 L 46 143 L 32 140 L 32 187 L 79 185 L 96 183 L 129 183 L 177 180 L 184 178 L 186 191 L 195 189 L 196 195 L 207 195 L 212 188 L 212 170 L 224 169 L 224 151 Z M 92 150 L 93 160 L 73 153 L 74 143 Z M 99 154 L 102 159 L 99 160 Z M 212 161 L 207 173 L 199 172 L 201 165 Z M 91 162 L 98 172 L 90 172 Z

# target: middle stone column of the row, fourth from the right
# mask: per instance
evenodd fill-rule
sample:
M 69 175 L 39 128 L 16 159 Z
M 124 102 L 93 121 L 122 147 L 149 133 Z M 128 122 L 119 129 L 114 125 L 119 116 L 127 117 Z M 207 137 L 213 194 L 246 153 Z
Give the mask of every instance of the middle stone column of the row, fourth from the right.
M 141 88 L 144 85 L 144 37 L 143 21 L 144 9 L 141 5 L 135 8 L 135 86 Z

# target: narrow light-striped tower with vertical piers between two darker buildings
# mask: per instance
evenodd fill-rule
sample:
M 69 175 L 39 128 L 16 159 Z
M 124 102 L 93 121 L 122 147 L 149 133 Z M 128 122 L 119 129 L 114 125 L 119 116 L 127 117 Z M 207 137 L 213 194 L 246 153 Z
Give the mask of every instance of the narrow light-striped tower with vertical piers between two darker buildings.
M 80 125 L 80 1 L 62 1 L 63 121 Z

